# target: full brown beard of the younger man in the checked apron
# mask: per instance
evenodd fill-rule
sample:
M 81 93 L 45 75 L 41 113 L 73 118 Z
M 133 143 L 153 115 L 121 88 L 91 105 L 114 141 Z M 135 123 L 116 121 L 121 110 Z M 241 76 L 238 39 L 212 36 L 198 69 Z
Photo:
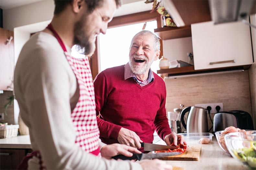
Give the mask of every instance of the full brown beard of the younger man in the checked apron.
M 94 39 L 90 40 L 90 35 L 85 33 L 86 17 L 76 22 L 74 25 L 74 44 L 80 54 L 91 56 L 95 51 Z

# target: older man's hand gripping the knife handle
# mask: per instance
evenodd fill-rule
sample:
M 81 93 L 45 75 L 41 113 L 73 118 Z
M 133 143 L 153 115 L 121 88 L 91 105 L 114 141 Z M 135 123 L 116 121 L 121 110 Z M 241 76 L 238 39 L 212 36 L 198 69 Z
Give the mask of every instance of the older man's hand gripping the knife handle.
M 140 137 L 134 132 L 126 128 L 121 128 L 117 140 L 120 144 L 141 148 L 140 142 L 143 142 Z

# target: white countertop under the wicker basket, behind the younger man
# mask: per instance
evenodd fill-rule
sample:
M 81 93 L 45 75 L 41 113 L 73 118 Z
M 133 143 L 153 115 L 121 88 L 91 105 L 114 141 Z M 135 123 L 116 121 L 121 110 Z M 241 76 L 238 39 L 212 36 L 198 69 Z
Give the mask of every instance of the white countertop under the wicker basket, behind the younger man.
M 0 148 L 31 149 L 29 135 L 0 139 Z

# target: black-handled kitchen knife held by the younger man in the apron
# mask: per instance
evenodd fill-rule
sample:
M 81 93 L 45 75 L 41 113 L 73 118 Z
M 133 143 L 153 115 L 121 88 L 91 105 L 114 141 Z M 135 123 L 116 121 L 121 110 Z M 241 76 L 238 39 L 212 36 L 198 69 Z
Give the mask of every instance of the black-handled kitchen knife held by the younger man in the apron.
M 165 156 L 174 156 L 174 155 L 180 155 L 182 154 L 181 152 L 160 152 L 160 153 L 150 153 L 150 154 L 133 154 L 133 156 L 128 157 L 128 156 L 124 156 L 124 155 L 116 155 L 113 156 L 113 159 L 122 159 L 122 160 L 143 160 L 143 159 L 153 159 L 153 158 L 162 158 Z

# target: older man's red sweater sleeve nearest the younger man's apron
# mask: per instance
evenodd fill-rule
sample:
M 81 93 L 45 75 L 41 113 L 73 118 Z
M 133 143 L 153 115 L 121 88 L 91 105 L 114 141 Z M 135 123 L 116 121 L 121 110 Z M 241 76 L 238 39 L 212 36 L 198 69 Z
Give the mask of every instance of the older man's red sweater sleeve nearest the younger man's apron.
M 94 80 L 96 114 L 100 115 L 101 109 L 106 105 L 109 95 L 109 86 L 104 71 L 99 73 Z M 104 117 L 104 116 L 103 116 Z M 122 126 L 107 122 L 97 116 L 100 136 L 104 138 L 117 139 L 118 133 Z

